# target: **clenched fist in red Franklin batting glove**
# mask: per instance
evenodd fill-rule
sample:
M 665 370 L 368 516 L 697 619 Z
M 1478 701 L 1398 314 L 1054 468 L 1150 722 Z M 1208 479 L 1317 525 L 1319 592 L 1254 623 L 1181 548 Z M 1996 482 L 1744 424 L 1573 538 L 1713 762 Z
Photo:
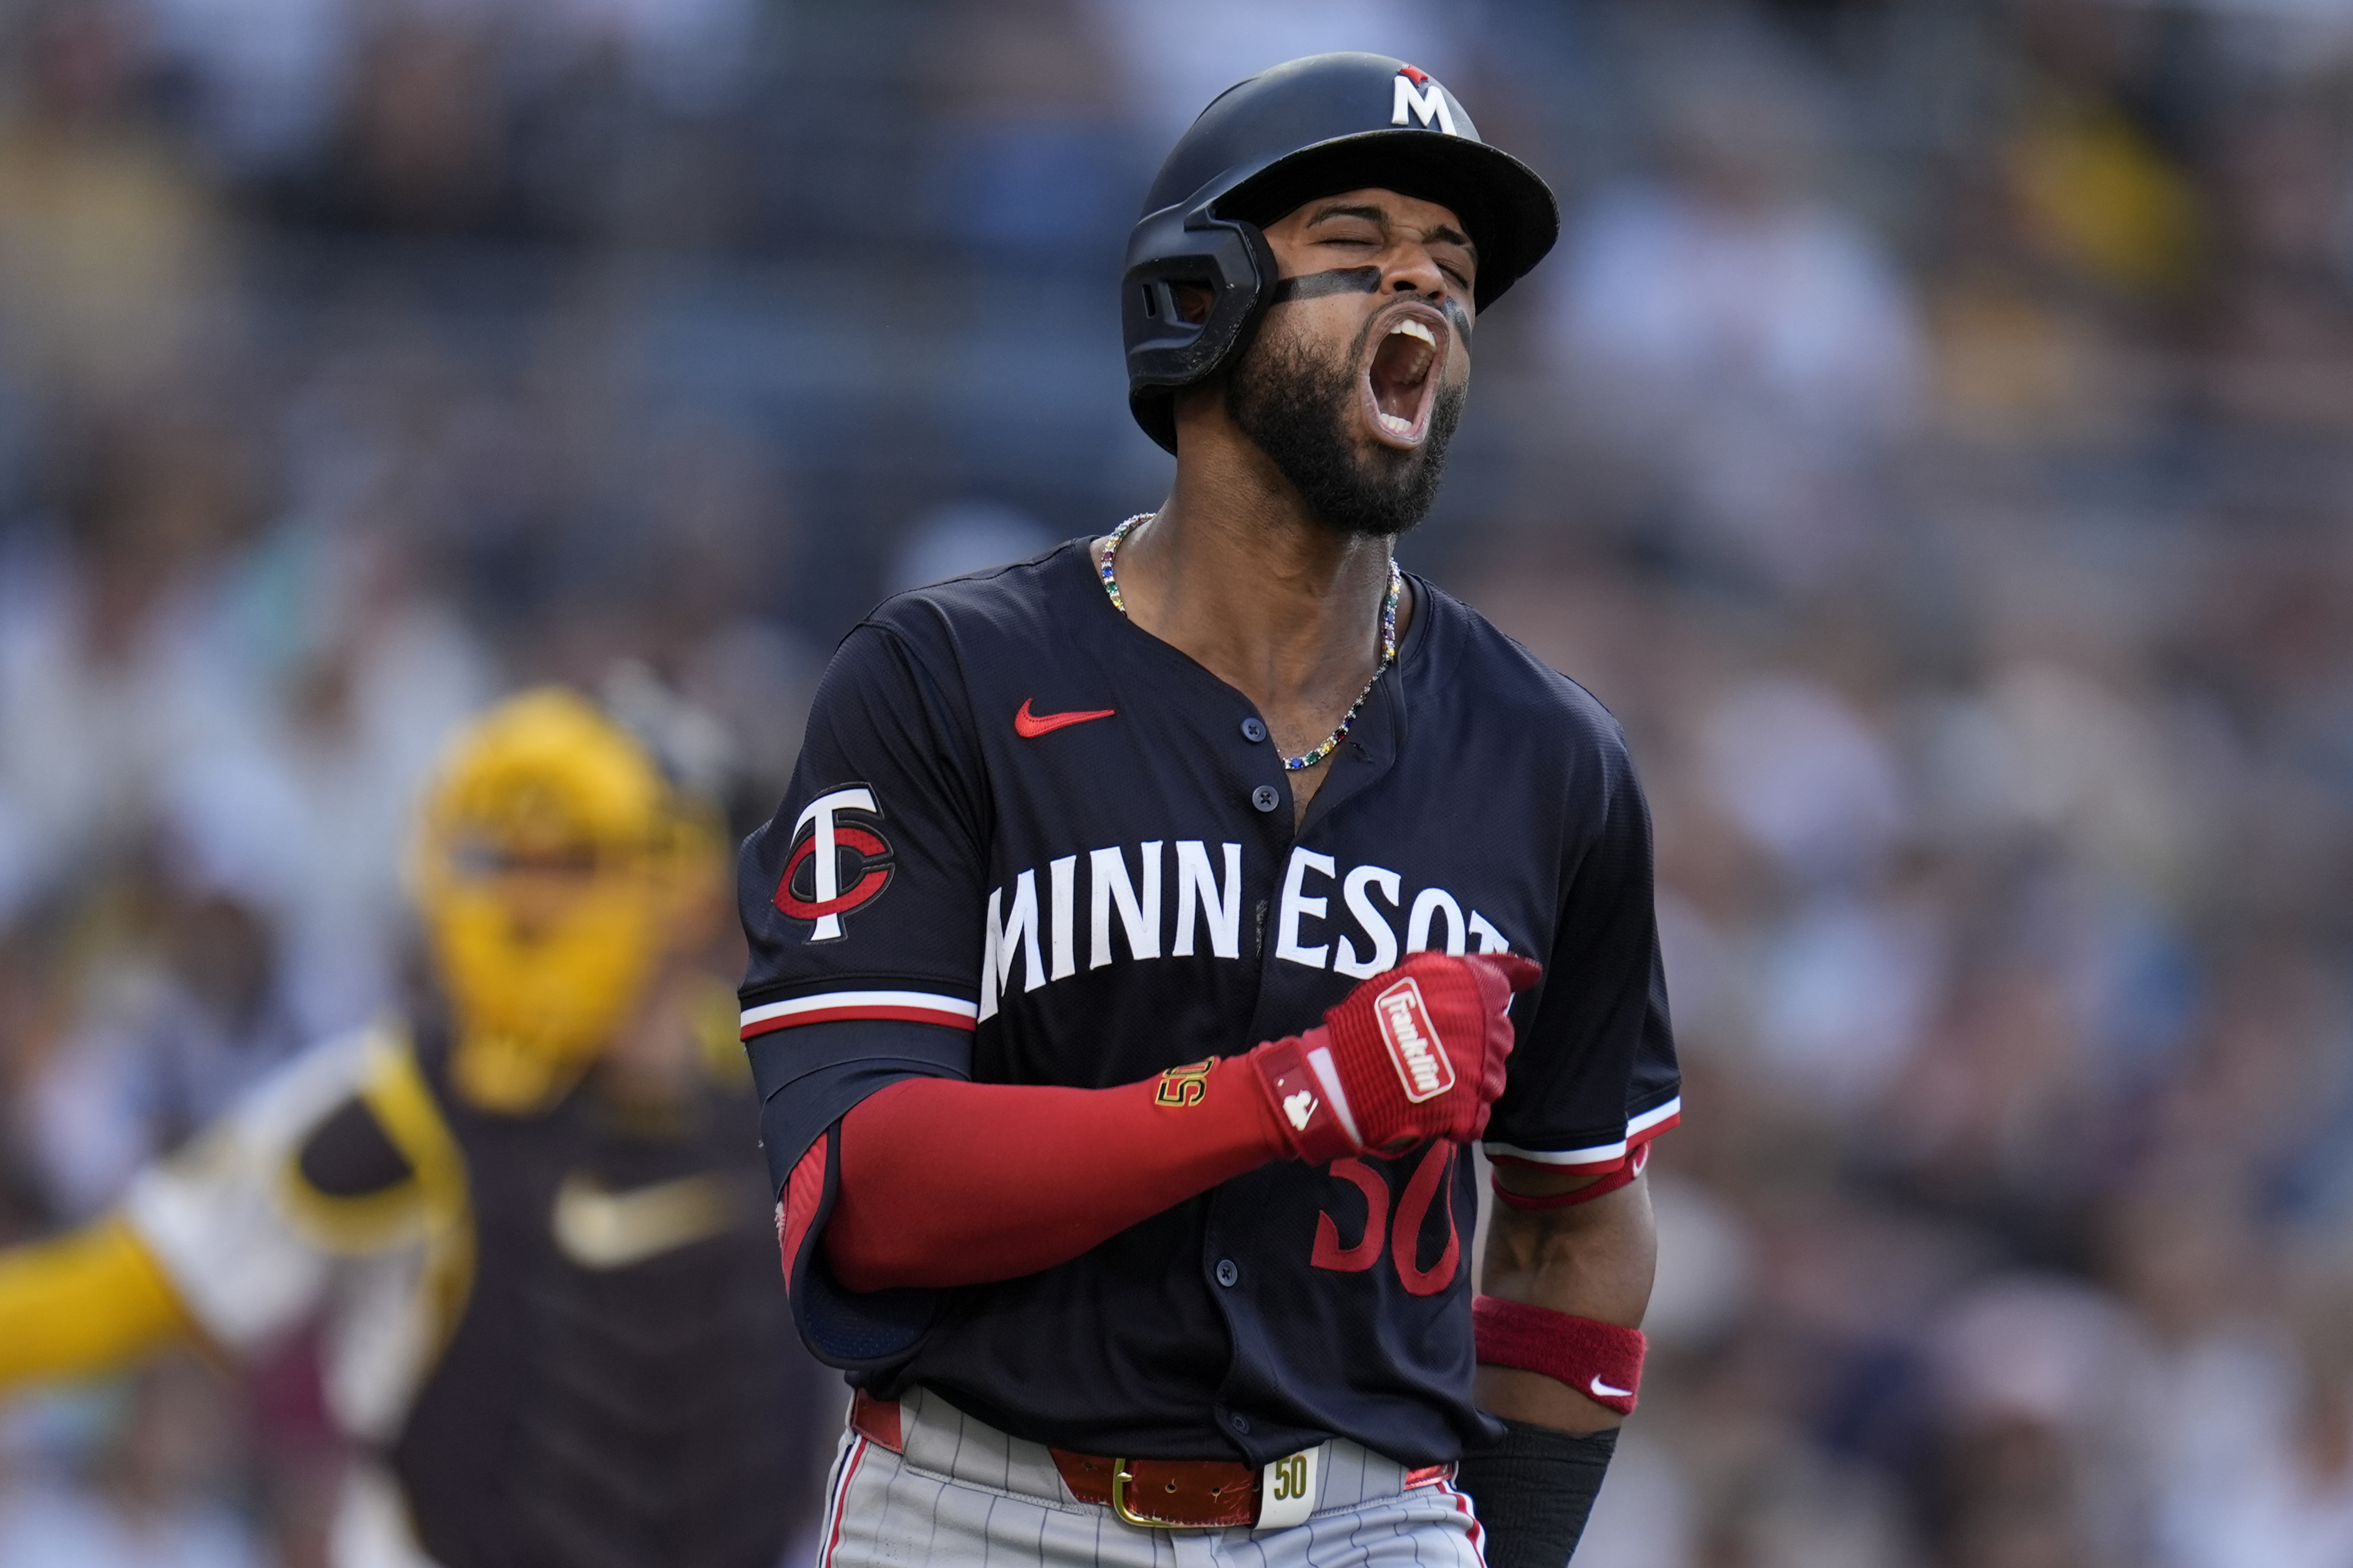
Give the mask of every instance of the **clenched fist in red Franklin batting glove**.
M 1348 992 L 1322 1027 L 1252 1051 L 1292 1150 L 1322 1164 L 1478 1138 L 1504 1093 L 1511 997 L 1541 973 L 1508 952 L 1417 952 Z

